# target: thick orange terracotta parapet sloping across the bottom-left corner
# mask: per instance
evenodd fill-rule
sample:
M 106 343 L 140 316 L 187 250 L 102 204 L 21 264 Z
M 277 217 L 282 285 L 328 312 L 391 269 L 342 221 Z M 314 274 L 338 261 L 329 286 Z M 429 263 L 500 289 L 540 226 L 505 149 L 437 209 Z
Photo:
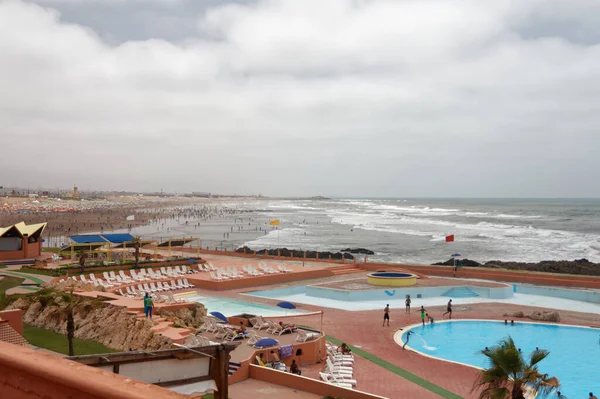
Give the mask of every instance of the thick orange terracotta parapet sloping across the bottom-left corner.
M 0 397 L 10 399 L 182 399 L 188 396 L 128 380 L 55 355 L 0 342 Z

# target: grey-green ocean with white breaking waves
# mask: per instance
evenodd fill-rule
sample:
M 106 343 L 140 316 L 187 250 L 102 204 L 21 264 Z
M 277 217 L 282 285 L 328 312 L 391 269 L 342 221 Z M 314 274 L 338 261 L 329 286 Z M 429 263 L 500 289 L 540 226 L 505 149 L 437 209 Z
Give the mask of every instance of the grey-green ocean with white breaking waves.
M 202 246 L 339 251 L 373 261 L 430 264 L 453 253 L 479 262 L 587 258 L 600 262 L 600 199 L 333 199 L 219 203 L 211 217 L 176 217 L 131 231 L 143 238 L 196 237 Z M 269 221 L 279 219 L 278 227 Z M 117 231 L 117 232 L 126 232 Z M 454 234 L 455 242 L 445 236 Z

